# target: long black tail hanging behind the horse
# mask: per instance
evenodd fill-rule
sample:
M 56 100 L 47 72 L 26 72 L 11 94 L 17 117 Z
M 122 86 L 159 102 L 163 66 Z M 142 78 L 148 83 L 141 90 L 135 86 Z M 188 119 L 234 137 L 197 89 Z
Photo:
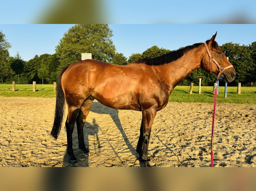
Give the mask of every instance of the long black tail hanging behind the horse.
M 51 136 L 55 140 L 58 138 L 58 135 L 60 133 L 60 129 L 63 121 L 63 115 L 65 111 L 65 95 L 61 87 L 61 77 L 67 69 L 68 69 L 68 66 L 62 69 L 56 83 L 56 106 L 55 106 L 54 122 L 51 129 Z

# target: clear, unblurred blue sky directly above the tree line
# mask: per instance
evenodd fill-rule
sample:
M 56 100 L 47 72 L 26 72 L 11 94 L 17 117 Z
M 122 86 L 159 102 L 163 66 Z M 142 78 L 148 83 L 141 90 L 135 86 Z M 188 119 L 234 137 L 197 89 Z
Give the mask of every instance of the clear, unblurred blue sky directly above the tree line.
M 53 54 L 55 46 L 71 24 L 0 24 L 0 30 L 12 44 L 10 56 L 19 52 L 28 61 L 36 54 Z M 142 53 L 156 45 L 176 50 L 204 42 L 217 31 L 219 45 L 227 42 L 248 45 L 256 41 L 256 24 L 110 24 L 116 51 L 125 57 Z

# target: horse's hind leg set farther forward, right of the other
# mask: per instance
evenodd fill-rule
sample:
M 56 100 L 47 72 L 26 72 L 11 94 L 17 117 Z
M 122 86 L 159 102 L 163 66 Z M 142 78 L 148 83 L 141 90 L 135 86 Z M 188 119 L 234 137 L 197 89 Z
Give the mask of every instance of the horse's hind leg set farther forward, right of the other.
M 86 99 L 83 105 L 81 106 L 78 117 L 77 117 L 77 134 L 78 134 L 78 144 L 79 148 L 84 152 L 85 156 L 90 156 L 90 151 L 85 147 L 84 141 L 84 125 L 86 117 L 90 111 L 93 100 Z

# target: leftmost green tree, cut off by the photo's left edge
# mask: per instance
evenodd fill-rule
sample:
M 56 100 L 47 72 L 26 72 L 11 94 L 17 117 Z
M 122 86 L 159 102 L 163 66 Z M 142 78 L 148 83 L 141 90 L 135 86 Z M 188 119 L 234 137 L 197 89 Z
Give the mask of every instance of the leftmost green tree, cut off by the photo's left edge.
M 3 80 L 8 76 L 12 75 L 13 71 L 8 62 L 9 57 L 9 48 L 11 44 L 7 41 L 5 34 L 0 31 L 0 78 L 3 83 Z

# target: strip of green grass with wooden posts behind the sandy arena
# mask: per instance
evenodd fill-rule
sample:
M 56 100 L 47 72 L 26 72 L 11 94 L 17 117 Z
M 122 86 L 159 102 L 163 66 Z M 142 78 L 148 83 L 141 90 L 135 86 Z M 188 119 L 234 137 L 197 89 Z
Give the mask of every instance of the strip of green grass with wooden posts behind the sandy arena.
M 0 84 L 0 96 L 6 97 L 55 97 L 53 85 L 36 85 L 36 92 L 32 91 L 33 85 L 16 84 L 16 91 L 12 91 L 11 84 Z M 202 86 L 198 94 L 198 86 L 193 87 L 193 94 L 189 95 L 189 86 L 176 86 L 169 101 L 174 102 L 214 102 L 213 87 Z M 249 103 L 256 104 L 256 87 L 241 87 L 241 94 L 237 94 L 237 87 L 228 87 L 227 98 L 224 98 L 225 87 L 219 87 L 218 103 Z

